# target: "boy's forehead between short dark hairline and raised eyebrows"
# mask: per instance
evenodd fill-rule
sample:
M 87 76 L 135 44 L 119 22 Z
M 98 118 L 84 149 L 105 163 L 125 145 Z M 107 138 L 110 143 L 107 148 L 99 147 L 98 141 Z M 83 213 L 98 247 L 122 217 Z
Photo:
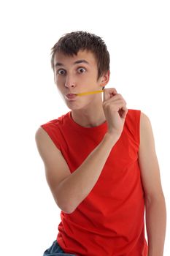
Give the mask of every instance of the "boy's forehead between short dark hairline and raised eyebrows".
M 55 53 L 54 57 L 54 66 L 60 64 L 65 65 L 73 65 L 77 64 L 78 62 L 87 62 L 90 66 L 96 66 L 96 58 L 94 53 L 90 50 L 79 50 L 77 55 L 69 56 L 64 53 Z

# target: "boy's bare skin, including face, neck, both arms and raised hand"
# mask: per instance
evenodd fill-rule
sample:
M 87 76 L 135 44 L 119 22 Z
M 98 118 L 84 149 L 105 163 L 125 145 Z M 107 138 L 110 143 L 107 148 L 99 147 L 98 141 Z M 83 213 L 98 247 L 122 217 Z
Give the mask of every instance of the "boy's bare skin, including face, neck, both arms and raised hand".
M 47 133 L 42 128 L 36 132 L 37 148 L 45 163 L 47 182 L 55 202 L 70 214 L 96 184 L 112 147 L 120 138 L 128 110 L 125 99 L 114 88 L 104 89 L 103 100 L 101 94 L 77 96 L 72 100 L 66 97 L 66 94 L 96 91 L 107 86 L 109 71 L 97 80 L 96 59 L 90 51 L 79 51 L 77 56 L 56 53 L 54 64 L 55 84 L 66 105 L 72 110 L 73 120 L 82 127 L 95 127 L 104 121 L 108 124 L 108 131 L 101 143 L 72 174 Z M 148 255 L 162 256 L 166 233 L 166 205 L 152 127 L 144 113 L 141 113 L 140 120 L 139 165 L 145 195 Z

